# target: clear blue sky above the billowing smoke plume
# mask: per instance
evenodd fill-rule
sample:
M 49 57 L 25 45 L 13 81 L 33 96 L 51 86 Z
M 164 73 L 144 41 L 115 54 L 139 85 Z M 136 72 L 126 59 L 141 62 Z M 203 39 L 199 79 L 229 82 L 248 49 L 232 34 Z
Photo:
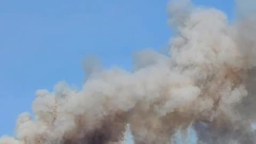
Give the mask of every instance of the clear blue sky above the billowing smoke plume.
M 35 91 L 66 81 L 81 87 L 82 62 L 132 68 L 133 52 L 164 49 L 172 37 L 167 0 L 0 1 L 0 135 L 14 135 Z M 234 18 L 234 1 L 194 0 Z

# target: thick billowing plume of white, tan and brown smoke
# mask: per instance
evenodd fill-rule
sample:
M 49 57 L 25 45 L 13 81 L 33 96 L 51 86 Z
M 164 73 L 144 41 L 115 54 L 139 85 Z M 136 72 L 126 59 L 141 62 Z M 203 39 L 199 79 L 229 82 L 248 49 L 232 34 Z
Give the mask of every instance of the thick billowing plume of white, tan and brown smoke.
M 85 61 L 82 90 L 38 90 L 35 118 L 21 114 L 16 137 L 0 143 L 121 143 L 127 124 L 136 144 L 172 143 L 190 126 L 198 143 L 256 143 L 256 19 L 243 10 L 230 25 L 219 10 L 171 2 L 169 54 L 138 52 L 133 72 Z

